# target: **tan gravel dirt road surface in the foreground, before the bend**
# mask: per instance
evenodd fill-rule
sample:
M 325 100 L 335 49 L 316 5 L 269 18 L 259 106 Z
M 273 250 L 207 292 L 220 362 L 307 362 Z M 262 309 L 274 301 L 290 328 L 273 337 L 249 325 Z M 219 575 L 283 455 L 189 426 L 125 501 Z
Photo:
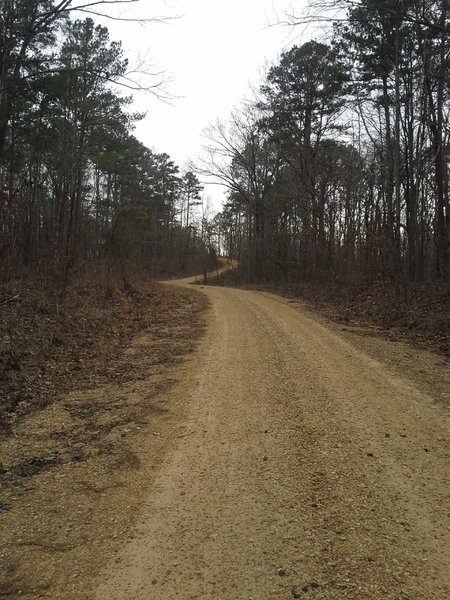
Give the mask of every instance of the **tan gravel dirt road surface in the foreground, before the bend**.
M 96 600 L 450 598 L 445 405 L 287 300 L 203 292 L 186 420 Z

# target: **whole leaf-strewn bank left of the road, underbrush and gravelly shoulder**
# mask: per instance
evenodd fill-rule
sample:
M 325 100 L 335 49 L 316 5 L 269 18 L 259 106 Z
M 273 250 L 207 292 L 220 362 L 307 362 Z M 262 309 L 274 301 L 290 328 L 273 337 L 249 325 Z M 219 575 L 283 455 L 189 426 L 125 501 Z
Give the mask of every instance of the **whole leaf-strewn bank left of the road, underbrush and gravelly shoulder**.
M 0 598 L 84 597 L 183 412 L 163 394 L 206 305 L 140 274 L 0 307 Z

